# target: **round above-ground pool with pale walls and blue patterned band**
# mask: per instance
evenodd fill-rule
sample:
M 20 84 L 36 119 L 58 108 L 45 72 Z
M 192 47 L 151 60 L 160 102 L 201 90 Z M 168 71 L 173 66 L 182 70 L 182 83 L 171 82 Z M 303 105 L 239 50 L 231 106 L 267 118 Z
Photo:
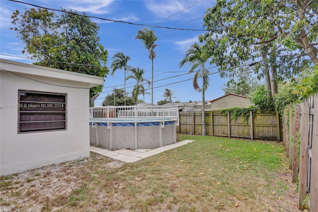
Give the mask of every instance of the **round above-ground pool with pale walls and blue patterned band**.
M 90 143 L 107 149 L 157 148 L 176 143 L 177 124 L 178 117 L 158 115 L 156 119 L 92 117 L 89 122 Z

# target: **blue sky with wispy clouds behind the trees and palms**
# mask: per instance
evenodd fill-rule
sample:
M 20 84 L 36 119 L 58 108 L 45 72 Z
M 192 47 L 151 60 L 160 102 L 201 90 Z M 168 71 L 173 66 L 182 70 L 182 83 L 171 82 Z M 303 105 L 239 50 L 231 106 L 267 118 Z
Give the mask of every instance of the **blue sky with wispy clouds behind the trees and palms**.
M 49 8 L 84 11 L 87 15 L 123 20 L 133 23 L 142 23 L 156 26 L 166 26 L 184 29 L 204 29 L 203 16 L 207 8 L 215 3 L 213 0 L 21 0 Z M 26 57 L 21 53 L 24 44 L 16 37 L 12 27 L 11 14 L 18 9 L 20 13 L 31 6 L 0 0 L 0 58 L 32 63 L 35 61 L 21 58 Z M 56 12 L 58 13 L 58 12 Z M 100 27 L 98 36 L 101 44 L 108 50 L 108 63 L 110 67 L 112 57 L 117 52 L 129 55 L 131 60 L 128 65 L 146 70 L 146 78 L 151 80 L 151 60 L 144 44 L 135 39 L 138 29 L 143 26 L 131 25 L 91 19 Z M 181 102 L 201 101 L 202 95 L 194 91 L 192 86 L 193 74 L 186 74 L 190 68 L 185 64 L 179 68 L 179 62 L 184 57 L 186 50 L 194 42 L 198 42 L 198 36 L 203 31 L 171 30 L 154 28 L 158 37 L 158 46 L 155 49 L 157 58 L 154 60 L 154 104 L 164 99 L 164 89 L 171 89 L 174 94 L 173 101 Z M 12 56 L 7 56 L 12 55 Z M 214 65 L 206 64 L 206 67 Z M 110 69 L 111 71 L 111 69 Z M 211 68 L 211 72 L 217 72 L 217 68 Z M 175 77 L 180 74 L 182 76 Z M 167 79 L 168 78 L 168 79 Z M 170 79 L 169 79 L 170 78 Z M 187 81 L 186 81 L 187 80 Z M 183 81 L 183 82 L 181 82 Z M 206 91 L 205 100 L 213 100 L 224 95 L 221 86 L 228 79 L 220 78 L 219 74 L 210 75 L 210 86 Z M 201 84 L 201 81 L 199 81 Z M 126 91 L 131 92 L 133 80 L 126 81 Z M 104 98 L 112 93 L 113 88 L 124 88 L 124 71 L 117 70 L 114 76 L 107 75 L 103 92 L 95 101 L 99 106 Z M 151 89 L 148 91 L 151 93 Z M 139 99 L 143 99 L 140 96 Z M 145 95 L 145 102 L 151 103 L 151 96 Z

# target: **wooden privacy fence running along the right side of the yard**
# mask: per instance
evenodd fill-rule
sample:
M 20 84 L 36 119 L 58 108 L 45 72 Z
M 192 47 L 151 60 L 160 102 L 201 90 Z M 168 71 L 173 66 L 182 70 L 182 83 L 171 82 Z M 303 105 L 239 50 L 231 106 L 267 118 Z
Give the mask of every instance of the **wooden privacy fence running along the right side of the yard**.
M 318 211 L 318 94 L 286 108 L 283 134 L 292 182 L 299 177 L 299 209 L 310 193 L 310 211 Z M 299 161 L 299 166 L 298 166 Z

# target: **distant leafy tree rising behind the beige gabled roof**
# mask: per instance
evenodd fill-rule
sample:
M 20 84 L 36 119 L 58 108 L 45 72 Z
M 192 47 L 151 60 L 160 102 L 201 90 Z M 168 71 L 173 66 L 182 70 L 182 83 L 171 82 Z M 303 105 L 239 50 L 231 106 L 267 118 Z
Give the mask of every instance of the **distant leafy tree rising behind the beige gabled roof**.
M 234 73 L 235 78 L 230 79 L 227 84 L 223 84 L 222 90 L 225 94 L 234 93 L 247 96 L 259 84 L 256 77 L 252 77 L 251 73 L 248 68 L 239 68 Z

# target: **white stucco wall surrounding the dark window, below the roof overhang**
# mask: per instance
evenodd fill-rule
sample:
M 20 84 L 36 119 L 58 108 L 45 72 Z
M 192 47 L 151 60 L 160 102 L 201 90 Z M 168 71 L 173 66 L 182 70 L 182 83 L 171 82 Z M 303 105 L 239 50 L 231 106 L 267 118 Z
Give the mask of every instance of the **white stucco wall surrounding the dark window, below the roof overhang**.
M 0 105 L 17 104 L 18 90 L 67 94 L 67 129 L 18 133 L 18 108 L 0 108 L 0 175 L 89 157 L 89 83 L 0 71 Z M 53 74 L 54 75 L 54 74 Z M 44 84 L 60 85 L 54 86 Z M 81 87 L 67 88 L 68 87 Z

